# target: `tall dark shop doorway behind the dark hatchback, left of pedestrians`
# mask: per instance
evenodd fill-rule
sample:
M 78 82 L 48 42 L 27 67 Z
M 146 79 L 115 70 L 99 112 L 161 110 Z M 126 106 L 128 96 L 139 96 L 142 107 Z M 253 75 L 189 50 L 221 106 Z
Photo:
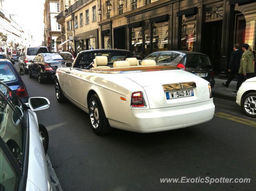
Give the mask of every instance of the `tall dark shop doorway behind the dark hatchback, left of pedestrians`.
M 222 20 L 203 24 L 202 53 L 209 56 L 214 74 L 220 73 Z

